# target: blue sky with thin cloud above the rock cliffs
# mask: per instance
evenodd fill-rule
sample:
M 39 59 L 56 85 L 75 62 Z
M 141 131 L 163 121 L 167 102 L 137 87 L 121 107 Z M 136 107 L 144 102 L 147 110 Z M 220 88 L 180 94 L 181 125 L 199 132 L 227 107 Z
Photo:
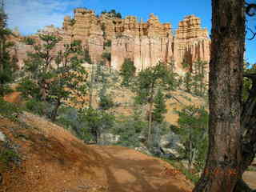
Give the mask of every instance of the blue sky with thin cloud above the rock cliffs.
M 76 7 L 92 9 L 96 14 L 102 10 L 117 10 L 123 17 L 134 15 L 144 22 L 150 13 L 158 16 L 161 22 L 170 22 L 177 29 L 178 22 L 186 15 L 194 14 L 202 20 L 202 27 L 211 29 L 210 0 L 6 0 L 8 25 L 11 29 L 18 27 L 22 34 L 33 34 L 43 26 L 62 27 L 65 15 L 73 16 Z M 250 18 L 256 25 L 256 19 Z M 246 41 L 246 59 L 256 62 L 256 40 Z

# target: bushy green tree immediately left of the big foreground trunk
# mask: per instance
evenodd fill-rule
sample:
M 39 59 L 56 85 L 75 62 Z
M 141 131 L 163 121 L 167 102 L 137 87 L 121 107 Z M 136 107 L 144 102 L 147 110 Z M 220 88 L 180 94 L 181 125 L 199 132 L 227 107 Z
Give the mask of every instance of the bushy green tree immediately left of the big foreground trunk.
M 181 149 L 191 165 L 196 162 L 196 169 L 202 170 L 208 149 L 208 121 L 209 115 L 203 107 L 187 106 L 177 111 L 177 131 L 185 149 Z

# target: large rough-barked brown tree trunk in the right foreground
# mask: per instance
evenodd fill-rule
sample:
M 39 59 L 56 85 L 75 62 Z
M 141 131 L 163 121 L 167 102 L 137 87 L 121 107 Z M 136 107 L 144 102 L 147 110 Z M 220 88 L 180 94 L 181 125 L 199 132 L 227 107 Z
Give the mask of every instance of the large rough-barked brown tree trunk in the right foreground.
M 194 192 L 231 192 L 242 178 L 243 0 L 212 1 L 210 145 Z

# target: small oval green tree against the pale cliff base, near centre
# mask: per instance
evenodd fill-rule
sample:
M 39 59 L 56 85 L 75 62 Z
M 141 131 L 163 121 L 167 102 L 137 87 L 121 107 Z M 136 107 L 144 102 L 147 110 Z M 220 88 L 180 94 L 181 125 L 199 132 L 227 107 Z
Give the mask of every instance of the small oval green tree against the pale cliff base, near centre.
M 125 58 L 125 61 L 122 64 L 120 75 L 122 75 L 122 85 L 129 86 L 130 79 L 134 77 L 136 72 L 136 67 L 134 62 L 130 58 Z

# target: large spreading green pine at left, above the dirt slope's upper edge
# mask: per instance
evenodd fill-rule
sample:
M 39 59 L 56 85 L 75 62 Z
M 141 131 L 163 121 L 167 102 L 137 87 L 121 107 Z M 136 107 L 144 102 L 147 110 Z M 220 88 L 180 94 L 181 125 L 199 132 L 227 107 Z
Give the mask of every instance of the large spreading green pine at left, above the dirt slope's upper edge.
M 74 41 L 64 45 L 64 50 L 58 51 L 55 56 L 54 47 L 62 38 L 50 34 L 40 34 L 39 38 L 42 43 L 33 44 L 34 52 L 28 53 L 24 65 L 26 76 L 22 78 L 18 90 L 25 98 L 34 99 L 27 102 L 29 110 L 38 114 L 45 111 L 44 114 L 54 121 L 62 102 L 84 104 L 78 102 L 78 97 L 86 93 L 87 73 L 81 59 L 84 53 L 81 42 Z M 53 106 L 49 107 L 50 113 L 49 110 L 42 110 L 40 101 Z M 38 108 L 34 108 L 33 103 L 38 103 Z

